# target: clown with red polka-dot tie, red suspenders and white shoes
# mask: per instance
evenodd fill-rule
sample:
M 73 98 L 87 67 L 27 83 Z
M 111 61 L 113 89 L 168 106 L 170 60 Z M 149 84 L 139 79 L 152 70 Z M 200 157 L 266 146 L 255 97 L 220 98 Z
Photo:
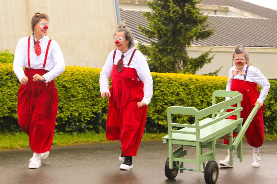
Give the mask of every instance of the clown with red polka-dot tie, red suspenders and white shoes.
M 35 13 L 31 24 L 33 35 L 18 41 L 13 69 L 21 83 L 18 123 L 29 136 L 30 148 L 34 151 L 29 168 L 37 169 L 51 149 L 58 112 L 54 78 L 63 73 L 65 62 L 58 43 L 46 36 L 48 16 Z

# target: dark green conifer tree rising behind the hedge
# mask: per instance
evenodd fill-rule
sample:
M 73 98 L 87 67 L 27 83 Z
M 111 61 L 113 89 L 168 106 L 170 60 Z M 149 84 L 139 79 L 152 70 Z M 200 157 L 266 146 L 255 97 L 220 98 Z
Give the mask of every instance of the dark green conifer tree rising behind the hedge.
M 201 1 L 201 0 L 200 0 Z M 147 2 L 150 12 L 143 12 L 148 27 L 138 25 L 139 30 L 154 39 L 148 47 L 139 42 L 139 50 L 148 57 L 153 72 L 195 74 L 205 64 L 211 63 L 211 50 L 197 58 L 190 58 L 187 46 L 192 41 L 204 40 L 215 28 L 208 23 L 208 16 L 196 7 L 199 0 L 152 0 Z M 219 69 L 220 70 L 220 69 Z M 205 75 L 217 75 L 219 70 Z

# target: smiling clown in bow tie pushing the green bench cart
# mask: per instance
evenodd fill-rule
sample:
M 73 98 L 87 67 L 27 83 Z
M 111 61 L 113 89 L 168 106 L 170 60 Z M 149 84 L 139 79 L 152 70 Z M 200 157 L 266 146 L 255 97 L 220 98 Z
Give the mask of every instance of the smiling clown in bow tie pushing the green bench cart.
M 259 104 L 259 110 L 245 132 L 245 136 L 247 143 L 253 147 L 252 167 L 260 167 L 259 147 L 262 146 L 264 140 L 263 102 L 267 97 L 270 83 L 258 68 L 250 66 L 249 55 L 242 46 L 237 45 L 235 47 L 233 61 L 235 66 L 229 70 L 226 90 L 238 91 L 243 94 L 243 101 L 241 102 L 241 107 L 243 107 L 243 111 L 241 112 L 243 122 L 246 121 L 254 106 Z M 257 85 L 262 87 L 260 94 Z M 230 111 L 232 110 L 228 110 L 227 112 Z M 228 119 L 236 119 L 236 116 L 231 116 Z M 236 135 L 237 133 L 234 132 L 233 137 Z M 224 144 L 229 144 L 229 140 L 225 139 Z M 229 154 L 230 150 L 228 150 L 226 159 L 219 161 L 221 166 L 233 167 L 230 166 Z

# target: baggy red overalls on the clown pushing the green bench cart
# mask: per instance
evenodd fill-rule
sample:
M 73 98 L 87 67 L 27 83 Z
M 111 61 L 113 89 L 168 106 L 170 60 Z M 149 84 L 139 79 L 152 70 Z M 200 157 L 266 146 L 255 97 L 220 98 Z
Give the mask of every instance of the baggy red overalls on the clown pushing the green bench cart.
M 243 94 L 243 100 L 241 102 L 241 107 L 243 107 L 243 110 L 241 111 L 241 117 L 243 118 L 244 123 L 254 108 L 257 99 L 259 98 L 257 84 L 254 82 L 232 79 L 231 91 L 238 91 L 239 93 Z M 233 109 L 227 110 L 227 112 L 231 111 L 233 111 Z M 263 111 L 264 104 L 262 108 L 257 111 L 255 117 L 245 132 L 247 143 L 255 148 L 262 146 L 264 140 Z M 231 116 L 227 119 L 235 120 L 237 118 L 236 116 Z M 233 137 L 235 136 L 237 136 L 237 132 L 233 132 Z M 229 140 L 224 139 L 224 144 L 229 144 Z

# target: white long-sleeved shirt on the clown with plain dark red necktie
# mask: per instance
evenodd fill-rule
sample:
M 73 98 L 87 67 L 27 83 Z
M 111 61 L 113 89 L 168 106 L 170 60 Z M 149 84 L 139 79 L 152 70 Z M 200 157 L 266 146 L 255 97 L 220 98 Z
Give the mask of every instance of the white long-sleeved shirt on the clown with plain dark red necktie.
M 134 48 L 130 48 L 126 53 L 124 53 L 123 58 L 123 67 L 127 67 L 131 55 L 134 51 Z M 114 65 L 117 64 L 118 60 L 121 58 L 122 52 L 118 49 L 116 50 Z M 105 65 L 102 67 L 102 71 L 100 72 L 100 92 L 110 92 L 109 91 L 109 78 L 111 76 L 111 72 L 113 70 L 113 56 L 114 50 L 110 52 L 108 58 L 106 60 Z M 139 80 L 141 80 L 144 84 L 143 87 L 143 100 L 141 102 L 145 102 L 147 105 L 150 103 L 152 95 L 153 95 L 153 79 L 151 76 L 151 72 L 148 66 L 148 63 L 143 56 L 143 54 L 136 50 L 134 53 L 134 57 L 130 63 L 130 68 L 134 68 L 137 71 L 139 76 Z

